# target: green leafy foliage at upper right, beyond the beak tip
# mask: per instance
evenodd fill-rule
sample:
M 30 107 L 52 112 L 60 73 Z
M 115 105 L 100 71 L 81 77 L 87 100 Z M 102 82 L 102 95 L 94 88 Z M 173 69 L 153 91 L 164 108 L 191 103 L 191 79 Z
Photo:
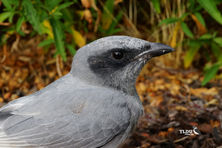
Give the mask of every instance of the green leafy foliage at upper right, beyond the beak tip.
M 214 63 L 211 63 L 211 66 L 205 66 L 205 77 L 202 85 L 206 85 L 207 82 L 214 78 L 219 68 L 222 67 L 222 36 L 217 35 L 216 28 L 207 32 L 208 28 L 202 13 L 205 10 L 217 23 L 222 25 L 222 14 L 217 8 L 217 5 L 221 3 L 221 0 L 188 0 L 186 3 L 187 10 L 180 17 L 171 17 L 160 22 L 160 24 L 179 23 L 182 31 L 187 36 L 187 39 L 184 40 L 185 46 L 188 47 L 184 57 L 185 68 L 190 67 L 196 54 L 201 54 L 200 49 L 209 48 L 211 50 L 207 56 L 209 61 Z M 190 17 L 195 21 L 199 34 L 193 28 L 188 27 Z

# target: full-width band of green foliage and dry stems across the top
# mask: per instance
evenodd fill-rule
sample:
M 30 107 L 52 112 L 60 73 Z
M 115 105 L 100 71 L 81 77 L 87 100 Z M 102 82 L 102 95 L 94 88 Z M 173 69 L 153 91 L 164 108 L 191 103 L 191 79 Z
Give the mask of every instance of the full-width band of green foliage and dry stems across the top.
M 176 48 L 174 63 L 185 68 L 203 57 L 205 85 L 222 68 L 221 10 L 222 0 L 0 0 L 0 46 L 15 34 L 39 35 L 39 46 L 55 45 L 65 61 L 86 40 L 142 37 Z

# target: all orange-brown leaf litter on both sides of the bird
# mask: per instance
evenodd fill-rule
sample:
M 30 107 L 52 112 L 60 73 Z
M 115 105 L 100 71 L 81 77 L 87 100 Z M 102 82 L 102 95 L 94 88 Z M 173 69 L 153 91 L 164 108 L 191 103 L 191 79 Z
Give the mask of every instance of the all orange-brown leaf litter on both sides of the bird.
M 39 37 L 18 40 L 0 50 L 1 106 L 44 88 L 58 79 L 59 73 L 65 75 L 70 70 L 71 55 L 63 62 L 54 58 L 54 47 L 44 50 L 37 46 Z M 144 116 L 124 148 L 221 146 L 222 81 L 202 87 L 201 80 L 203 75 L 195 69 L 147 64 L 136 83 Z M 193 127 L 199 135 L 179 132 Z

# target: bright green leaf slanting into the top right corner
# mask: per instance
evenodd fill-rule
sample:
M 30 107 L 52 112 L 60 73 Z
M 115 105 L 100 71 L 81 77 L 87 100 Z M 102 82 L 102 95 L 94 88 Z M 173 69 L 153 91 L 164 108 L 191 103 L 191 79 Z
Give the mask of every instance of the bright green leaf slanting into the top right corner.
M 217 9 L 214 0 L 197 0 L 198 3 L 213 17 L 218 23 L 222 24 L 222 15 Z

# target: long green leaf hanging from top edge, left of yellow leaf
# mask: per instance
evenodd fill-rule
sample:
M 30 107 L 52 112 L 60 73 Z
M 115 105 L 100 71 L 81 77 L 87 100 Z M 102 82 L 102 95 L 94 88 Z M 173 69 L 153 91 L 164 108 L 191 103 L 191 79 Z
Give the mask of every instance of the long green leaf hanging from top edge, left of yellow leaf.
M 40 27 L 40 21 L 39 16 L 37 14 L 36 9 L 34 8 L 31 0 L 23 0 L 22 6 L 24 7 L 24 15 L 27 18 L 27 21 L 32 24 L 35 31 L 37 31 L 39 34 L 42 33 L 41 27 Z

